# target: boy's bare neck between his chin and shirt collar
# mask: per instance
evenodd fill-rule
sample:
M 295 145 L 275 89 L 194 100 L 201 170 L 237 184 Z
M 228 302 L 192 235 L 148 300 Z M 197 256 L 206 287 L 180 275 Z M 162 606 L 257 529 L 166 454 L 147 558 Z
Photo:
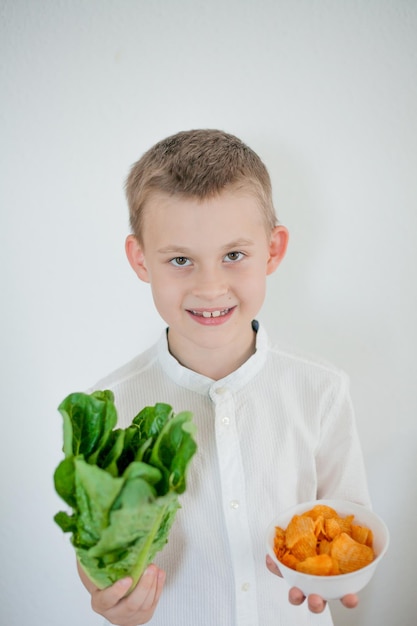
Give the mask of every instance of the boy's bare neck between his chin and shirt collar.
M 255 353 L 256 332 L 251 329 L 247 341 L 242 342 L 238 350 L 233 350 L 230 345 L 215 349 L 193 345 L 190 350 L 186 350 L 184 342 L 178 342 L 177 345 L 175 337 L 168 330 L 168 347 L 172 356 L 187 369 L 212 380 L 220 380 L 236 371 Z

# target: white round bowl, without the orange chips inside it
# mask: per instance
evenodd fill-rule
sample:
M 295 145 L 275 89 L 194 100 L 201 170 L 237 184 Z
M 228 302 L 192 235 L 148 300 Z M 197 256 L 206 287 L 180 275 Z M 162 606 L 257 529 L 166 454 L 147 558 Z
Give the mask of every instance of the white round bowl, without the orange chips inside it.
M 355 524 L 366 526 L 372 530 L 373 549 L 375 552 L 375 559 L 372 563 L 348 574 L 313 576 L 311 574 L 297 572 L 278 561 L 274 552 L 275 527 L 280 526 L 285 530 L 294 515 L 305 513 L 316 504 L 326 504 L 335 509 L 342 517 L 354 515 Z M 342 598 L 350 593 L 357 593 L 368 584 L 388 549 L 389 532 L 382 519 L 364 506 L 345 500 L 314 500 L 313 502 L 298 504 L 278 515 L 268 527 L 266 541 L 268 554 L 277 564 L 284 580 L 290 587 L 298 587 L 305 596 L 316 593 L 325 600 L 333 600 Z

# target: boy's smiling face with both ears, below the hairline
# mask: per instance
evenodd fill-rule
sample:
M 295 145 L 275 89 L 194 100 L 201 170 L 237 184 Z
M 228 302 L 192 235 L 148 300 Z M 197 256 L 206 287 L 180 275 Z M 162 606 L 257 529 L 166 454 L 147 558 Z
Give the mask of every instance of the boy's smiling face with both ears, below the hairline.
M 187 364 L 213 350 L 243 353 L 253 344 L 266 276 L 285 254 L 286 229 L 267 233 L 255 198 L 244 192 L 204 201 L 155 194 L 145 211 L 143 246 L 131 235 L 126 251 L 151 284 L 173 354 Z

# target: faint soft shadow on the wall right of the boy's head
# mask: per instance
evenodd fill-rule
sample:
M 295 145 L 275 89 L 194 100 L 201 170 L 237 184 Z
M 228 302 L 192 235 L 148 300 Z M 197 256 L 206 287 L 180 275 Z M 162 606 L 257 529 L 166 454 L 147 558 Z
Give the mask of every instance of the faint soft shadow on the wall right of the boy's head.
M 287 347 L 315 352 L 305 343 L 303 334 L 300 336 L 300 329 L 308 335 L 310 327 L 320 325 L 312 319 L 311 285 L 320 250 L 326 247 L 329 228 L 321 191 L 311 165 L 301 154 L 279 140 L 271 143 L 263 137 L 258 145 L 253 141 L 252 144 L 270 173 L 278 220 L 290 233 L 286 257 L 268 282 L 261 318 L 271 338 L 279 338 Z

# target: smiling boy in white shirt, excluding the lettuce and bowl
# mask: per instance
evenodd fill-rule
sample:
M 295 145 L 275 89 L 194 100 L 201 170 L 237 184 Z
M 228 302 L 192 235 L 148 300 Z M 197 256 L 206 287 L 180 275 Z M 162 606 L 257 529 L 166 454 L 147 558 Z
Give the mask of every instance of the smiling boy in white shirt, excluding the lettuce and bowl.
M 329 625 L 321 598 L 288 602 L 265 531 L 297 502 L 368 494 L 346 376 L 271 346 L 255 321 L 288 242 L 267 170 L 236 137 L 189 131 L 151 148 L 126 190 L 127 257 L 167 330 L 96 387 L 122 426 L 156 402 L 192 411 L 198 452 L 158 565 L 125 598 L 130 579 L 99 591 L 80 572 L 92 606 L 121 626 L 300 626 L 312 612 Z

